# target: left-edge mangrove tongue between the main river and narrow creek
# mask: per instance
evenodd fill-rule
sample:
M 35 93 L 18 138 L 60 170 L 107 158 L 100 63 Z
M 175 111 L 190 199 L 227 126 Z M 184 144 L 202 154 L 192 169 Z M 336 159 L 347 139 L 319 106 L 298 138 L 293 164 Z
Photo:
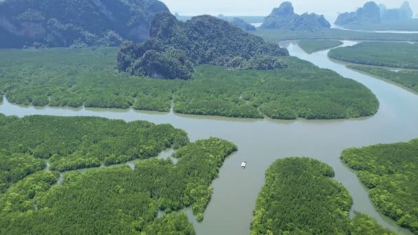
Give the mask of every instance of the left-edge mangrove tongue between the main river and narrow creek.
M 40 170 L 44 163 L 32 157 L 49 159 L 52 170 L 65 171 L 148 159 L 166 148 L 179 148 L 188 143 L 184 131 L 168 124 L 150 122 L 0 115 L 0 123 L 0 153 L 13 157 L 5 161 L 7 165 L 4 166 L 6 176 L 15 172 L 10 182 Z M 17 157 L 23 159 L 23 163 L 35 165 L 30 168 L 19 164 L 20 169 L 10 169 L 8 173 L 8 168 L 17 164 L 14 163 Z

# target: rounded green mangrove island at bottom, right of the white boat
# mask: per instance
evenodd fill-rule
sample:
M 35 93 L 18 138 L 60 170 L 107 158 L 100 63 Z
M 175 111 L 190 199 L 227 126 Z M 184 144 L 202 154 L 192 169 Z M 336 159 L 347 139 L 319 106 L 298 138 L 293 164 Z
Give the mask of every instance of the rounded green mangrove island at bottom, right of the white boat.
M 393 234 L 365 214 L 350 219 L 351 196 L 333 176 L 315 159 L 276 160 L 265 173 L 250 234 Z

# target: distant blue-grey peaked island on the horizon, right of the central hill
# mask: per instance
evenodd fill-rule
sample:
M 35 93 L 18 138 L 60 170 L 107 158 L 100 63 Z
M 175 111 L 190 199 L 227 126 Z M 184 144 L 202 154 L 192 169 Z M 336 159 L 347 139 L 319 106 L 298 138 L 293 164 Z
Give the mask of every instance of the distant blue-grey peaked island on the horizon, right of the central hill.
M 261 28 L 280 29 L 280 30 L 305 30 L 317 31 L 330 28 L 331 24 L 323 15 L 302 14 L 294 12 L 292 3 L 285 1 L 278 8 L 274 8 L 272 13 L 264 20 Z

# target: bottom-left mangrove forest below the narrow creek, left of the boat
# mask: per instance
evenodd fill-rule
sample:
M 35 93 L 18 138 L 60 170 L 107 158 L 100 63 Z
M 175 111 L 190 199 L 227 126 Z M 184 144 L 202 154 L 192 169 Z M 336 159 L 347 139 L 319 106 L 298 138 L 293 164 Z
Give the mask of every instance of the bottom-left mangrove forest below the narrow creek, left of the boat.
M 180 148 L 164 159 L 128 166 L 58 173 L 43 170 L 0 194 L 0 234 L 195 234 L 210 201 L 210 183 L 236 146 L 217 138 Z M 157 218 L 158 210 L 165 212 Z

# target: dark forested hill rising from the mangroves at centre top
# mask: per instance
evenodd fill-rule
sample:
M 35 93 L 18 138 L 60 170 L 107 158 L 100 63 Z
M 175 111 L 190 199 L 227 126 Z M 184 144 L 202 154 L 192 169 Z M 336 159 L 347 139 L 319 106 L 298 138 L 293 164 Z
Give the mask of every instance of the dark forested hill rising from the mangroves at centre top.
M 276 69 L 276 56 L 287 49 L 248 34 L 213 16 L 177 21 L 168 12 L 157 14 L 143 44 L 125 43 L 118 53 L 118 70 L 152 78 L 191 78 L 193 65 L 222 65 L 233 69 Z

